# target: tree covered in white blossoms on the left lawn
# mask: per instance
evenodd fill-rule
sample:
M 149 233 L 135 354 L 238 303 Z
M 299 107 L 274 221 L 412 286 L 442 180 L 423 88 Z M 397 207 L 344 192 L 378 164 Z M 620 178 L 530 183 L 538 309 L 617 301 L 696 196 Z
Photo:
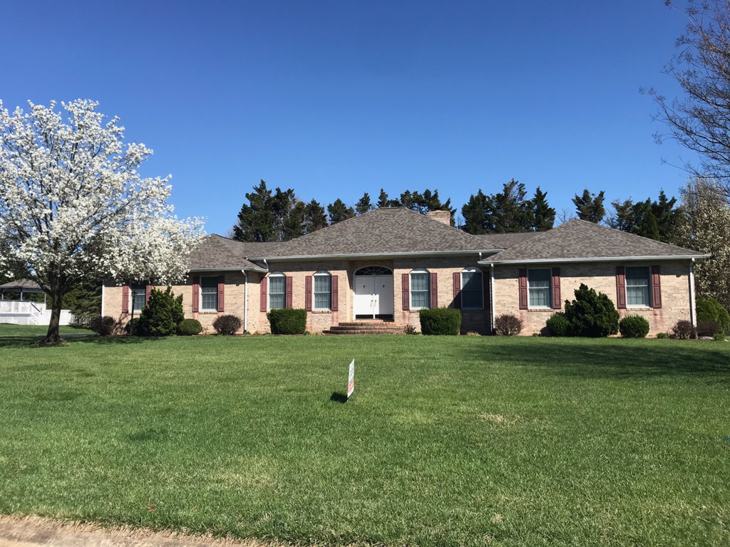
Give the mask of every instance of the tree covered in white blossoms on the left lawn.
M 62 102 L 66 122 L 55 101 L 28 104 L 11 115 L 0 101 L 0 268 L 20 263 L 50 296 L 54 344 L 61 299 L 81 279 L 181 279 L 203 222 L 172 215 L 170 176 L 139 176 L 152 150 L 123 144 L 99 103 Z

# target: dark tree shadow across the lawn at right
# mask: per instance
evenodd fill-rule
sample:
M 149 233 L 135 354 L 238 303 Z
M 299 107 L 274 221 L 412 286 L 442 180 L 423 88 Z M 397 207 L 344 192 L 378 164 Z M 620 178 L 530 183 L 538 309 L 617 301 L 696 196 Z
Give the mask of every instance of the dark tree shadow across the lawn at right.
M 679 375 L 707 376 L 713 381 L 730 382 L 730 352 L 719 344 L 725 343 L 541 338 L 534 344 L 489 346 L 479 358 L 590 379 Z

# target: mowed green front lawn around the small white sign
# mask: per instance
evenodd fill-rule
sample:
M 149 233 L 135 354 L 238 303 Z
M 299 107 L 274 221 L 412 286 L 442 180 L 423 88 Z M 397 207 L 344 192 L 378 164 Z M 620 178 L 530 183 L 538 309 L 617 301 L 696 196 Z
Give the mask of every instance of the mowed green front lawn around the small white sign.
M 0 338 L 1 513 L 304 544 L 730 545 L 728 343 L 33 341 Z

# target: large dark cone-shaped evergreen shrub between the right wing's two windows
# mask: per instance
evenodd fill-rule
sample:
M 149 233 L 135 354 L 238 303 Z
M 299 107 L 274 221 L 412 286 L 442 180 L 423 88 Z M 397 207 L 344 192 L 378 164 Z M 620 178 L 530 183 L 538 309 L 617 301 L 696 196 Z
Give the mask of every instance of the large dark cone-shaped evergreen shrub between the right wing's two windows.
M 583 283 L 575 290 L 575 300 L 566 300 L 565 318 L 573 336 L 602 338 L 618 333 L 618 311 L 611 299 Z

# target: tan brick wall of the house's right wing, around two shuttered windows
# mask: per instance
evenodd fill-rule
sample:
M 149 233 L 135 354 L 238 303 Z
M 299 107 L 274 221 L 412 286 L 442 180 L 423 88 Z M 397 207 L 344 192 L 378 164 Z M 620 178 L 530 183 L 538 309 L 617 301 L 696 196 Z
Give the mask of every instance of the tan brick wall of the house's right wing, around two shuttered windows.
M 620 317 L 641 315 L 650 325 L 649 335 L 668 333 L 679 319 L 690 318 L 689 269 L 688 260 L 631 262 L 631 263 L 587 263 L 560 264 L 561 309 L 565 311 L 565 300 L 575 298 L 575 290 L 581 283 L 598 292 L 604 292 L 616 303 L 616 266 L 617 265 L 659 265 L 661 273 L 661 303 L 659 309 L 633 308 L 618 310 Z M 496 265 L 494 268 L 494 307 L 495 316 L 513 314 L 523 320 L 523 335 L 542 332 L 545 321 L 557 309 L 520 310 L 518 275 L 520 265 Z

